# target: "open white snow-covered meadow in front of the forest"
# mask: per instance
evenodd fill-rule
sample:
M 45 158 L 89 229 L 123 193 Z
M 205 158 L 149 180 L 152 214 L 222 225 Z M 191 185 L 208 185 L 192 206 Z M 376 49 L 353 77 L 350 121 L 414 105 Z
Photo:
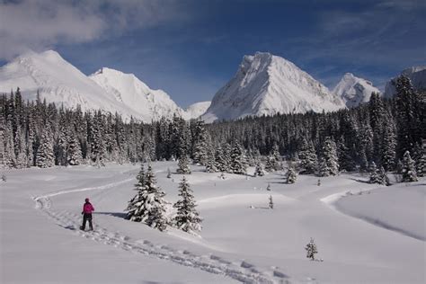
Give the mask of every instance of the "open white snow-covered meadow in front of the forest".
M 204 218 L 197 237 L 123 218 L 138 167 L 3 171 L 0 282 L 425 282 L 424 179 L 382 187 L 342 174 L 318 186 L 315 176 L 300 175 L 295 184 L 281 173 L 221 180 L 192 167 L 187 177 Z M 176 164 L 154 167 L 174 202 L 182 176 L 166 174 Z M 77 229 L 86 197 L 96 209 L 94 232 Z M 306 259 L 310 237 L 324 262 Z

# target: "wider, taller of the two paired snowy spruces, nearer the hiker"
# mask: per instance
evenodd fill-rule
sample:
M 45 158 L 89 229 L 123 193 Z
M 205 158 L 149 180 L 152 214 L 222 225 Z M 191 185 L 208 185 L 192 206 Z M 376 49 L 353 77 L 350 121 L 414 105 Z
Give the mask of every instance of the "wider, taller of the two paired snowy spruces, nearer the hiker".
M 127 218 L 134 222 L 145 222 L 148 226 L 164 231 L 168 223 L 165 216 L 167 202 L 164 200 L 164 192 L 156 185 L 151 164 L 146 173 L 141 167 L 137 179 L 135 190 L 138 193 L 129 201 Z

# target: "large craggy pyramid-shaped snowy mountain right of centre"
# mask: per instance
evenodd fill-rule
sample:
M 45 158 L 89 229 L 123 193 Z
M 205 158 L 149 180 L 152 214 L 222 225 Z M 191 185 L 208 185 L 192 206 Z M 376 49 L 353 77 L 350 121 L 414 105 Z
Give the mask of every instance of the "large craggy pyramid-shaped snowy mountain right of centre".
M 284 58 L 257 52 L 244 56 L 234 77 L 214 96 L 206 122 L 245 116 L 336 111 L 342 99 Z

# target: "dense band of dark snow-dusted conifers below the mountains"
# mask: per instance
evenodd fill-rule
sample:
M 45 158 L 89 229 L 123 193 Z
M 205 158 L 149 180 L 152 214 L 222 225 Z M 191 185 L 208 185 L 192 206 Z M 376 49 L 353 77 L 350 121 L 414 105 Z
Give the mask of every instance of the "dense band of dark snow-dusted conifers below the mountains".
M 324 148 L 331 148 L 327 151 L 335 152 L 339 171 L 367 170 L 371 162 L 393 171 L 406 151 L 420 161 L 426 139 L 426 94 L 414 90 L 404 76 L 395 87 L 394 99 L 373 93 L 370 102 L 351 110 L 209 125 L 179 117 L 151 124 L 125 122 L 117 113 L 68 110 L 41 101 L 39 95 L 33 102 L 23 102 L 18 89 L 0 97 L 0 164 L 102 166 L 110 161 L 138 163 L 188 156 L 211 172 L 228 172 L 223 167 L 231 156 L 242 155 L 241 163 L 253 165 L 260 155 L 273 154 L 290 160 L 308 156 L 313 160 L 310 166 L 317 169 L 314 164 L 324 160 Z

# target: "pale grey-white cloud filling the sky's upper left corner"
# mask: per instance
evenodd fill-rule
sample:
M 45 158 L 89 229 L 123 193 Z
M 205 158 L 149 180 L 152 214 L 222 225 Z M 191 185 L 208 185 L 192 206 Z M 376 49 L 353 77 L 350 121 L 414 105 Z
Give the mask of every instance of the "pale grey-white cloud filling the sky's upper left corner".
M 184 16 L 174 1 L 0 1 L 0 58 L 79 43 Z

